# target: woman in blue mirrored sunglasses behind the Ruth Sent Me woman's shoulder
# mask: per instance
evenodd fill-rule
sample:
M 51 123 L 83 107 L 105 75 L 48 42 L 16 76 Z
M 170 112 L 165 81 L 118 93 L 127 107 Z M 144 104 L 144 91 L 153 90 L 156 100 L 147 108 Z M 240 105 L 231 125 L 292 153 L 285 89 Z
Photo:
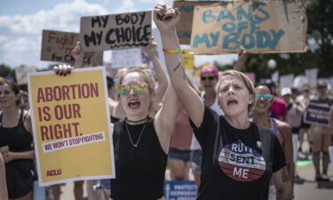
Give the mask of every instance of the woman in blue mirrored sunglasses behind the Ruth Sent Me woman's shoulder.
M 274 117 L 269 116 L 269 108 L 271 107 L 274 95 L 271 89 L 262 84 L 257 85 L 256 91 L 256 104 L 253 109 L 253 123 L 262 127 L 271 129 L 281 142 L 284 154 L 287 159 L 287 168 L 290 176 L 290 184 L 294 185 L 295 177 L 295 163 L 293 159 L 292 148 L 292 132 L 289 124 L 284 123 Z M 269 200 L 276 199 L 276 190 L 274 188 L 274 182 L 271 181 L 269 189 Z

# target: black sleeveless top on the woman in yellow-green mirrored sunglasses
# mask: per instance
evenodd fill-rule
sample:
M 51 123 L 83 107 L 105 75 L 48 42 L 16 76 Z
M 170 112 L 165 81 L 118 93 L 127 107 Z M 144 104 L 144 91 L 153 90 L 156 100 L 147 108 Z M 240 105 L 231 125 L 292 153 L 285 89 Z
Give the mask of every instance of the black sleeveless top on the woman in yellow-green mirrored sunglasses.
M 127 124 L 124 120 L 115 123 L 113 134 L 115 148 L 115 179 L 111 180 L 113 200 L 156 200 L 163 196 L 163 185 L 168 155 L 164 153 L 155 132 L 154 120 L 145 124 Z M 138 143 L 135 148 L 131 144 Z

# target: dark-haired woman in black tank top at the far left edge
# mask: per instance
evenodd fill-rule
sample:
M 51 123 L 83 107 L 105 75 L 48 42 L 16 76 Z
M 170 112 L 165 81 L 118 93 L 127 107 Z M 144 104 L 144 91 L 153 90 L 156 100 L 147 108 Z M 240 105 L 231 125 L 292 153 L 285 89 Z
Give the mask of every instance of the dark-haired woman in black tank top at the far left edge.
M 12 81 L 0 81 L 0 149 L 8 196 L 15 200 L 32 200 L 35 152 L 31 116 L 19 104 L 20 87 Z

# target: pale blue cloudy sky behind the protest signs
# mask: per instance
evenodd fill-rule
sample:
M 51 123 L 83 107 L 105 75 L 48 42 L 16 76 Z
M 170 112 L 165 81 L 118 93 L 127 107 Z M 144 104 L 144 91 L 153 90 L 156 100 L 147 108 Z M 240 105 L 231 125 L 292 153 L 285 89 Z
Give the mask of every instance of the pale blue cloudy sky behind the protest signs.
M 52 62 L 40 60 L 42 30 L 79 32 L 80 18 L 123 12 L 152 10 L 156 3 L 172 4 L 171 0 L 11 0 L 0 1 L 0 63 L 12 68 L 20 65 L 47 68 Z M 153 28 L 155 24 L 153 22 Z M 186 48 L 186 47 L 185 47 Z M 104 61 L 110 62 L 110 52 Z M 228 64 L 237 56 L 200 55 L 194 64 L 214 60 Z

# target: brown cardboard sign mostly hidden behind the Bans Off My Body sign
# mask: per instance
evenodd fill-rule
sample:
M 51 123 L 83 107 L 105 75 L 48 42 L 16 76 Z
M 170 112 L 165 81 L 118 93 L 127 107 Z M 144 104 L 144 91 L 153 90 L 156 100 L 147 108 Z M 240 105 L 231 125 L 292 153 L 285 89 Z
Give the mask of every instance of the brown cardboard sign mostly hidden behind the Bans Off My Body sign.
M 180 20 L 177 23 L 177 35 L 179 44 L 190 44 L 194 14 L 194 5 L 208 5 L 218 1 L 174 1 L 173 7 L 181 12 Z

